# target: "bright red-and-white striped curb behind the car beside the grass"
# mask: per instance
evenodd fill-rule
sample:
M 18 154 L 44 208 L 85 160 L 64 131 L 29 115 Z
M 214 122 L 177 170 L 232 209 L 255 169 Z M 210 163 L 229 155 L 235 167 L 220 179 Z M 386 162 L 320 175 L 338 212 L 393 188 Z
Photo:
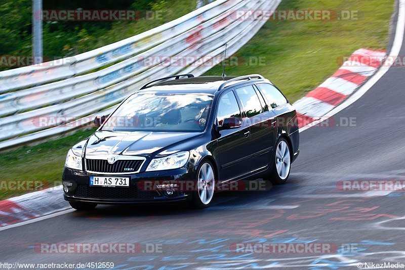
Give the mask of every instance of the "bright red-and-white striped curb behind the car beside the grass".
M 377 72 L 385 56 L 385 51 L 355 51 L 332 77 L 294 103 L 298 125 L 310 124 L 341 104 Z

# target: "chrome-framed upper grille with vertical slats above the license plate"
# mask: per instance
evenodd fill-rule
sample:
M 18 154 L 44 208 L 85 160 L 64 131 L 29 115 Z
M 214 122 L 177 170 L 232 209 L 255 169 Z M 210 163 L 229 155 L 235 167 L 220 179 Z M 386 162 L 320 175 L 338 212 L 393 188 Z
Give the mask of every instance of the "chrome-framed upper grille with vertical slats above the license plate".
M 104 159 L 86 159 L 88 171 L 106 173 L 130 173 L 140 169 L 143 160 L 117 160 L 113 164 Z

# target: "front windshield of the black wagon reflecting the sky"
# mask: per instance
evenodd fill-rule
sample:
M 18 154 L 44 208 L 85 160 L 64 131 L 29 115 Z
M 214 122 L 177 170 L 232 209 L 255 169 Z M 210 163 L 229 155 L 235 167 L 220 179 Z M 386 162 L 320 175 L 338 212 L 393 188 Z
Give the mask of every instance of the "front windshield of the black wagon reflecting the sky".
M 135 94 L 111 115 L 102 130 L 200 132 L 213 97 L 196 94 Z

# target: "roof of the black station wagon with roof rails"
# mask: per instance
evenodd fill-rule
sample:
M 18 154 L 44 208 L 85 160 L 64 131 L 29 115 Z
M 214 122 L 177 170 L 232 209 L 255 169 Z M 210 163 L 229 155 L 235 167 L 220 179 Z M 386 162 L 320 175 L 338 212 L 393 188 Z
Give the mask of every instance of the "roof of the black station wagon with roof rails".
M 210 94 L 214 95 L 219 87 L 227 80 L 237 78 L 237 76 L 199 76 L 185 79 L 172 79 L 157 82 L 152 86 L 142 89 L 138 93 L 159 92 L 159 93 L 188 93 L 188 94 Z M 226 86 L 234 85 L 247 80 L 236 80 L 229 82 Z

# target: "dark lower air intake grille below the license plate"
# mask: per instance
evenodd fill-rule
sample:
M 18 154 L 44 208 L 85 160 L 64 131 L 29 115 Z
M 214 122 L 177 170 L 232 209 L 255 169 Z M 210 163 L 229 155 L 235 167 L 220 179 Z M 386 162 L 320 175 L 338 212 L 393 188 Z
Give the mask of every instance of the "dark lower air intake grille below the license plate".
M 160 197 L 156 191 L 140 191 L 136 186 L 129 188 L 89 187 L 78 185 L 74 197 L 95 199 L 153 199 Z

